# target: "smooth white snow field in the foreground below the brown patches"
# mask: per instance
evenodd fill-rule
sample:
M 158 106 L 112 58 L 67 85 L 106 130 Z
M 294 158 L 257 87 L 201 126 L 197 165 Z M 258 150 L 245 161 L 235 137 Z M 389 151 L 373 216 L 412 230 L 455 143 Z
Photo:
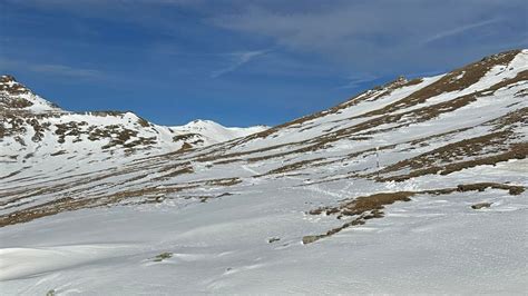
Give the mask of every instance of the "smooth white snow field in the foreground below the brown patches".
M 502 178 L 519 165 L 500 165 Z M 496 172 L 473 172 L 487 170 Z M 432 185 L 475 176 L 459 174 Z M 392 205 L 383 219 L 302 245 L 303 235 L 339 224 L 303 209 L 335 198 L 325 191 L 346 197 L 369 185 L 295 185 L 255 184 L 212 203 L 87 209 L 7 227 L 0 289 L 8 295 L 526 290 L 526 194 L 420 196 Z M 481 201 L 493 206 L 470 208 Z M 272 237 L 280 240 L 268 244 Z M 153 262 L 166 251 L 173 257 Z

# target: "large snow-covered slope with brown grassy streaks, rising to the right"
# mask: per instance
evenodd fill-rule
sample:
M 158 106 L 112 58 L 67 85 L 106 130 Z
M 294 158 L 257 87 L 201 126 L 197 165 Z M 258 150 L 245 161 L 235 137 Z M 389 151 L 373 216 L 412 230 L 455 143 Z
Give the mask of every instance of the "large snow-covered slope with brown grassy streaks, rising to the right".
M 514 50 L 213 146 L 4 166 L 0 288 L 524 293 L 527 96 Z

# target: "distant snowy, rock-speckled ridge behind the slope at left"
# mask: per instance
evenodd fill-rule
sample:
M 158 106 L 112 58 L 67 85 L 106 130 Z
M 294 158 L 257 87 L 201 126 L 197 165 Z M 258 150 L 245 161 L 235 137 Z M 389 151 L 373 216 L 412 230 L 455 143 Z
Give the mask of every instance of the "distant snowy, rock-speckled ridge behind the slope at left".
M 71 112 L 36 95 L 12 76 L 0 76 L 2 158 L 29 161 L 62 154 L 135 155 L 138 150 L 172 152 L 204 147 L 260 132 L 267 127 L 224 127 L 211 120 L 185 126 L 151 124 L 133 112 Z M 102 154 L 105 155 L 105 154 Z M 18 156 L 28 156 L 18 157 Z

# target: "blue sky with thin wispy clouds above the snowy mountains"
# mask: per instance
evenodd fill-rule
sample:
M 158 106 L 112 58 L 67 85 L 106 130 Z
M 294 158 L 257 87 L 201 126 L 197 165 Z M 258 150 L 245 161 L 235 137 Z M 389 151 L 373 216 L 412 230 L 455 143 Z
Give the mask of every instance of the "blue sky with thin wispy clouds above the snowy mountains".
M 528 47 L 525 0 L 0 0 L 0 72 L 62 108 L 277 125 Z

